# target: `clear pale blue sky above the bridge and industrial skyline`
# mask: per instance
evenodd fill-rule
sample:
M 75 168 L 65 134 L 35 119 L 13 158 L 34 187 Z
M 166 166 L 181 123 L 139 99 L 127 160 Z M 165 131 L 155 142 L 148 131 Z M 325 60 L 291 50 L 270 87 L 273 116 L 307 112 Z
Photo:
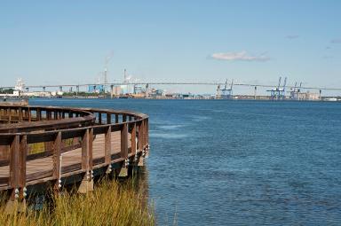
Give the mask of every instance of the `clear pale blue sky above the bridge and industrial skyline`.
M 0 1 L 1 86 L 123 81 L 341 87 L 341 1 Z M 167 87 L 214 93 L 216 87 Z

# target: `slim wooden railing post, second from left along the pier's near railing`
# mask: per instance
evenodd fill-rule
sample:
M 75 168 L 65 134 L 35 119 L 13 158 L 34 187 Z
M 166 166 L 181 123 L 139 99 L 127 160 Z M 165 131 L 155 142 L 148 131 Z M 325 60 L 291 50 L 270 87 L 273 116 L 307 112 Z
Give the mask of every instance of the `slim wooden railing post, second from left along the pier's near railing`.
M 59 191 L 59 188 L 61 187 L 61 181 L 60 181 L 60 174 L 61 174 L 61 132 L 59 131 L 54 138 L 53 141 L 53 155 L 52 155 L 52 160 L 53 160 L 53 179 L 55 180 L 54 183 L 54 191 Z

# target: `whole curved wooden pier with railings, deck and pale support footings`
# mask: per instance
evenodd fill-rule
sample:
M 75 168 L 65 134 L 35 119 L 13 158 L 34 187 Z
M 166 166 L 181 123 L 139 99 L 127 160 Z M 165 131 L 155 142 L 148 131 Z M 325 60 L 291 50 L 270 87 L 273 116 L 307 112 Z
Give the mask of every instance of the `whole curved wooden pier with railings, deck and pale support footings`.
M 6 209 L 25 209 L 36 191 L 78 184 L 93 190 L 93 178 L 129 176 L 149 150 L 148 117 L 111 109 L 0 105 L 0 191 Z

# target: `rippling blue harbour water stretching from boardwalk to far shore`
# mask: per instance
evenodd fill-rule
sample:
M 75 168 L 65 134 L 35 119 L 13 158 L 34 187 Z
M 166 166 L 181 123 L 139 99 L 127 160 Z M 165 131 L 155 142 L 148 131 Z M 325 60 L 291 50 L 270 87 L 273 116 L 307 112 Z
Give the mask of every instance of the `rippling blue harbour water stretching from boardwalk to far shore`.
M 149 195 L 161 225 L 341 225 L 341 103 L 30 103 L 149 114 Z

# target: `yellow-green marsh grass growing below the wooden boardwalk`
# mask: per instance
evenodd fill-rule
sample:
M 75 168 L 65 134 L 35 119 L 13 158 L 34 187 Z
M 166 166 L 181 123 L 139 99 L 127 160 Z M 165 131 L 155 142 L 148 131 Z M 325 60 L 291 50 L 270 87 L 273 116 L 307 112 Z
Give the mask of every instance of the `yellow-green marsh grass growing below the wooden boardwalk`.
M 0 225 L 155 225 L 146 192 L 134 187 L 131 181 L 102 180 L 87 195 L 63 191 L 52 195 L 51 205 L 39 211 L 28 208 L 25 214 L 4 214 L 2 199 Z

